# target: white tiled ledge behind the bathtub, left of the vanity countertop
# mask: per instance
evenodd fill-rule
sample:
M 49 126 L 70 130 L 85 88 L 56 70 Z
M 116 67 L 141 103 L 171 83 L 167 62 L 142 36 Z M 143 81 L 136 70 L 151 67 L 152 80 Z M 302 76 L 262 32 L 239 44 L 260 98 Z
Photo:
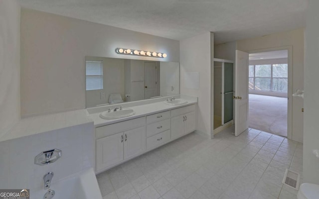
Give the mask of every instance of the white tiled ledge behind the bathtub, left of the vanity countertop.
M 0 142 L 90 122 L 86 109 L 26 117 L 1 136 Z

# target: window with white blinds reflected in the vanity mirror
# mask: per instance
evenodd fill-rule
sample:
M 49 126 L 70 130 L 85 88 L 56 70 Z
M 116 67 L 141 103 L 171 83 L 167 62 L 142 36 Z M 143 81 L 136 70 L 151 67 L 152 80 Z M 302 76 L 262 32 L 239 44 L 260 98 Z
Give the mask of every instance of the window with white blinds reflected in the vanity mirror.
M 103 89 L 103 61 L 86 61 L 86 90 Z

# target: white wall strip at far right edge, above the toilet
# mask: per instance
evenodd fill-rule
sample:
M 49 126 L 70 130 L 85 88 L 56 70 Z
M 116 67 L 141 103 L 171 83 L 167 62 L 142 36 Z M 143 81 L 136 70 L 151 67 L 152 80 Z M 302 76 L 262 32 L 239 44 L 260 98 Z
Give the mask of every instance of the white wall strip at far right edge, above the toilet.
M 309 0 L 306 25 L 304 164 L 305 183 L 319 184 L 319 159 L 312 154 L 319 149 L 319 1 Z

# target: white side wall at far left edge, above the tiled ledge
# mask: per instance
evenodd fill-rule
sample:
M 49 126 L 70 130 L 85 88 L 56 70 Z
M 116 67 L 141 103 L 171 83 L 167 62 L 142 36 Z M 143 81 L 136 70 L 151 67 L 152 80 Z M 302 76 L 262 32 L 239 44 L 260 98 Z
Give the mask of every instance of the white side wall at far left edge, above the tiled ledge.
M 0 0 L 0 137 L 19 119 L 20 6 Z

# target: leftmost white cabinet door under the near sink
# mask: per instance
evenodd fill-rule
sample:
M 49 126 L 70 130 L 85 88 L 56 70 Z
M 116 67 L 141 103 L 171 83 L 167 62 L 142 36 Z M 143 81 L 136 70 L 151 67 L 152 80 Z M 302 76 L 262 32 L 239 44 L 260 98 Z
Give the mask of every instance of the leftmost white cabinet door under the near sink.
M 123 160 L 123 133 L 96 140 L 96 170 L 106 169 Z

